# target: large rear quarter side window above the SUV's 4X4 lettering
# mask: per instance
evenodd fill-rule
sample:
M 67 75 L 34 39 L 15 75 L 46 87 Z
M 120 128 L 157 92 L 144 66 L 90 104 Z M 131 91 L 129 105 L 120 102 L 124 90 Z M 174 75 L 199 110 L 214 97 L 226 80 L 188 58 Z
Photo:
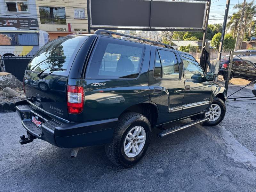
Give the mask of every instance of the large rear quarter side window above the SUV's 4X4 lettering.
M 101 37 L 86 70 L 86 78 L 136 78 L 143 52 L 143 44 Z

